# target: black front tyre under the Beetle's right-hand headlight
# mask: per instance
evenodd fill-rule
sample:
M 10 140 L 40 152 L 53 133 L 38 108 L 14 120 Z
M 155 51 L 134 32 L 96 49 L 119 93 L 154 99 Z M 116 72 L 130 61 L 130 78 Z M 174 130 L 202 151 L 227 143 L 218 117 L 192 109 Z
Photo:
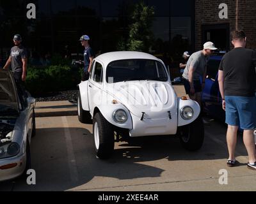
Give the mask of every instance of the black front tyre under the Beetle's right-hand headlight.
M 180 127 L 180 142 L 190 151 L 198 150 L 204 143 L 204 123 L 202 117 L 198 117 L 187 126 Z

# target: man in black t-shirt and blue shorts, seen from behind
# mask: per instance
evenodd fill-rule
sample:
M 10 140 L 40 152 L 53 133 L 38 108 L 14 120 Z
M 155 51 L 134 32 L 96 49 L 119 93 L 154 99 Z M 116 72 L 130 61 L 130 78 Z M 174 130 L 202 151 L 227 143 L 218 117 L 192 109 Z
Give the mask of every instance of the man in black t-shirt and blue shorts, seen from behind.
M 228 166 L 236 165 L 237 129 L 244 130 L 244 145 L 249 156 L 248 168 L 256 170 L 253 130 L 256 128 L 256 52 L 246 49 L 244 31 L 232 32 L 234 50 L 224 55 L 220 63 L 219 84 L 228 124 Z

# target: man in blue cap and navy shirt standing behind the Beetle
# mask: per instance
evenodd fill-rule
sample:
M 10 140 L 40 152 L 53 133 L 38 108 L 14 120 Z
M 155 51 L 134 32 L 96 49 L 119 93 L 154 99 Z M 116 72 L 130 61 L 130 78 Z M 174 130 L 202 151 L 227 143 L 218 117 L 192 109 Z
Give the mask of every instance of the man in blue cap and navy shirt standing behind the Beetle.
M 89 36 L 83 35 L 80 40 L 81 45 L 84 47 L 84 70 L 82 74 L 82 82 L 87 81 L 92 69 L 92 61 L 94 58 L 93 50 L 89 45 Z

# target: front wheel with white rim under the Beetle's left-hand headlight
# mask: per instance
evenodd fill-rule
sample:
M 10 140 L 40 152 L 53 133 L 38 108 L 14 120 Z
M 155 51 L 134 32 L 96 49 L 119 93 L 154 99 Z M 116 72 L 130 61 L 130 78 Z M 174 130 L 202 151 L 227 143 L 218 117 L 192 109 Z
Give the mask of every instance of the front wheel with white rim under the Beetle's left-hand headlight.
M 99 159 L 108 159 L 114 150 L 115 138 L 111 124 L 101 113 L 93 118 L 94 147 Z

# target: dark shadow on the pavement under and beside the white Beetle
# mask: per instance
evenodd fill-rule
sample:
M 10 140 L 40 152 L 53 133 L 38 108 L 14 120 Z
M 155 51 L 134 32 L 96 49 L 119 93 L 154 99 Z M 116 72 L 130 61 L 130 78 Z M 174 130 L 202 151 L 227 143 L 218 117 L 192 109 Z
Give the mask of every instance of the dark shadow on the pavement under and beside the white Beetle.
M 70 132 L 72 144 L 68 143 L 65 136 L 67 131 Z M 179 138 L 138 138 L 132 146 L 129 143 L 119 143 L 113 157 L 102 161 L 95 157 L 93 135 L 87 129 L 38 129 L 31 143 L 31 167 L 36 171 L 36 186 L 28 186 L 25 180 L 16 179 L 0 183 L 0 191 L 66 191 L 89 184 L 95 177 L 103 177 L 102 182 L 106 178 L 129 180 L 161 177 L 165 170 L 156 167 L 157 164 L 141 163 L 161 159 L 166 159 L 167 162 L 226 159 L 225 132 L 223 124 L 210 122 L 205 126 L 204 146 L 197 152 L 184 150 Z M 75 163 L 68 161 L 70 156 L 67 149 L 70 148 L 74 152 Z M 237 149 L 237 156 L 247 155 L 241 138 L 237 141 Z M 70 162 L 77 171 L 78 180 L 73 182 L 70 179 Z

